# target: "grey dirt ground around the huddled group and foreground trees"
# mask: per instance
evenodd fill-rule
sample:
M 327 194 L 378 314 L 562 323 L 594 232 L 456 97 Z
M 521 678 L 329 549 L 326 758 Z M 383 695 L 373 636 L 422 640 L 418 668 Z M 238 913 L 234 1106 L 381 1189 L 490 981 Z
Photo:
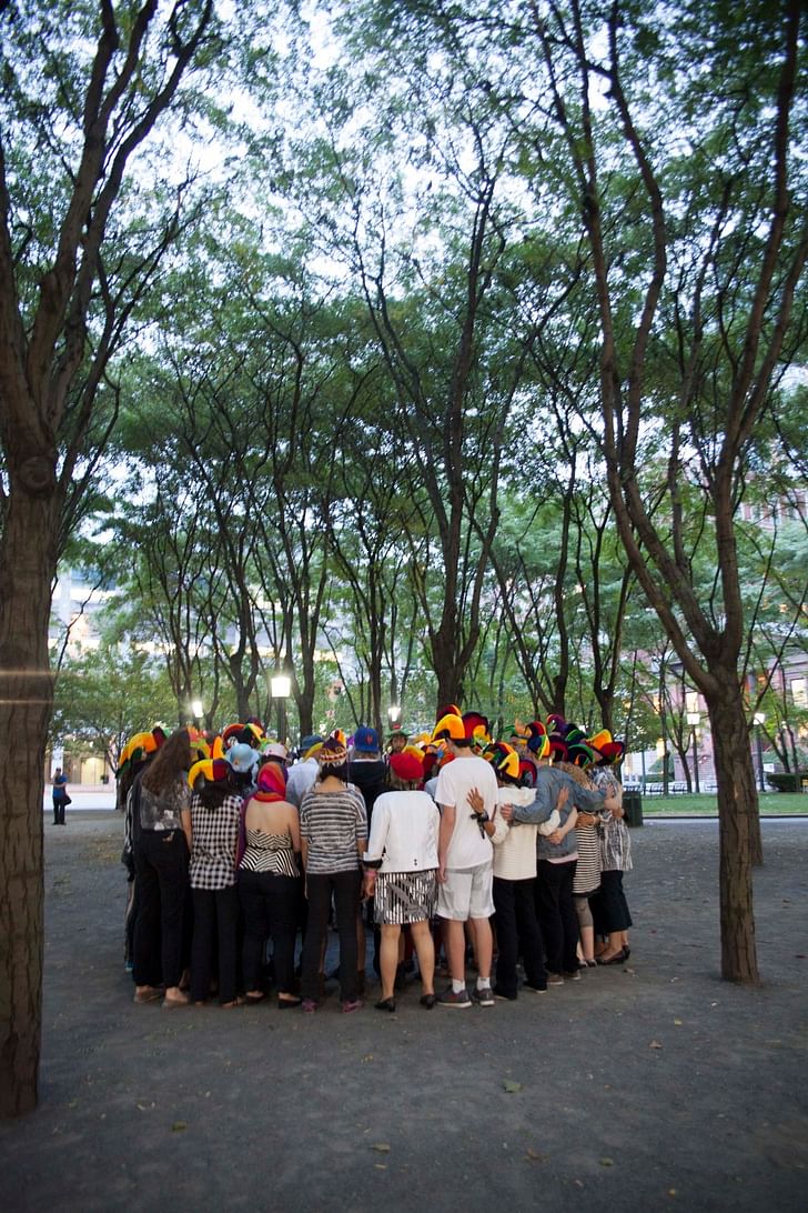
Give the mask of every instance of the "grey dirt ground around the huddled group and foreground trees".
M 718 979 L 717 827 L 632 831 L 623 967 L 516 1003 L 132 1003 L 121 820 L 45 825 L 39 1110 L 0 1209 L 804 1211 L 808 824 L 767 821 L 763 985 Z M 373 987 L 372 987 L 373 992 Z

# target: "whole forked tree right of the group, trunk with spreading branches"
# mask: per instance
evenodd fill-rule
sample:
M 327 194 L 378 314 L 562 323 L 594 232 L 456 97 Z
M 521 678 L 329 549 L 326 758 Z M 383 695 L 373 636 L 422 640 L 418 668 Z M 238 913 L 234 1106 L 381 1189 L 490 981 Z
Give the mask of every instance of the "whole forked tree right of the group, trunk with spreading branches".
M 682 10 L 674 33 L 642 5 L 601 11 L 572 0 L 565 12 L 550 5 L 546 17 L 533 8 L 532 33 L 566 143 L 565 186 L 578 198 L 591 256 L 612 506 L 637 580 L 707 706 L 718 781 L 721 967 L 724 978 L 753 984 L 757 797 L 734 523 L 755 425 L 772 406 L 778 364 L 802 340 L 792 308 L 808 235 L 790 198 L 802 187 L 790 156 L 801 8 L 784 4 L 728 16 L 710 5 L 709 19 L 701 5 Z M 604 40 L 602 53 L 596 36 Z M 764 72 L 757 70 L 761 45 Z M 671 89 L 651 90 L 652 73 L 660 81 L 678 78 L 675 99 Z M 577 87 L 569 89 L 573 78 Z M 598 90 L 606 114 L 595 108 Z M 663 114 L 670 129 L 672 104 L 687 152 L 666 163 L 653 132 L 661 131 Z M 630 193 L 619 188 L 620 172 Z M 640 216 L 648 240 L 626 251 L 619 233 Z M 620 269 L 632 283 L 628 294 Z M 628 341 L 619 335 L 626 304 L 636 317 Z M 675 385 L 665 383 L 660 366 Z M 654 395 L 665 402 L 667 457 L 649 499 L 643 422 Z M 714 545 L 716 577 L 706 599 L 687 546 L 688 482 L 700 486 L 703 517 L 709 509 L 714 528 L 697 537 L 697 545 Z

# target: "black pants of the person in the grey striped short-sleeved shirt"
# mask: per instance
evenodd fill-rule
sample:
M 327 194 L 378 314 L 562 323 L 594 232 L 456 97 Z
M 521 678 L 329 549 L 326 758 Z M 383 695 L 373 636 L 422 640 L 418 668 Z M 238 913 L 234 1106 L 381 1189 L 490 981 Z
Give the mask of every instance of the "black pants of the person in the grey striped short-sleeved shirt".
M 356 998 L 356 966 L 359 945 L 356 941 L 356 916 L 359 913 L 362 878 L 359 869 L 350 872 L 309 875 L 309 922 L 303 941 L 303 980 L 300 992 L 304 998 L 320 997 L 320 950 L 328 927 L 331 895 L 334 896 L 337 930 L 339 933 L 339 986 L 343 1002 Z

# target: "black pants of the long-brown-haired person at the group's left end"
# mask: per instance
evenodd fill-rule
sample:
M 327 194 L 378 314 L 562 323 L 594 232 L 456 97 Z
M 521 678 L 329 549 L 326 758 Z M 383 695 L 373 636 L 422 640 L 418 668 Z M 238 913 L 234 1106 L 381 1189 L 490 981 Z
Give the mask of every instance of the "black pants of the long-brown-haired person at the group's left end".
M 134 984 L 179 985 L 188 895 L 188 843 L 182 830 L 142 830 L 134 848 L 138 911 Z

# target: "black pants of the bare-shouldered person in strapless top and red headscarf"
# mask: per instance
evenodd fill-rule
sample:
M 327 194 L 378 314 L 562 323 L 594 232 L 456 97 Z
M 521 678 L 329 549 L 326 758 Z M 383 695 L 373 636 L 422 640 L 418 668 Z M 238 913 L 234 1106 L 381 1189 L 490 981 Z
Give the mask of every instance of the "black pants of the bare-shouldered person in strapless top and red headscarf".
M 245 990 L 260 990 L 264 943 L 271 936 L 275 983 L 281 993 L 294 992 L 294 943 L 300 918 L 303 882 L 297 876 L 239 870 L 243 910 L 241 966 Z

